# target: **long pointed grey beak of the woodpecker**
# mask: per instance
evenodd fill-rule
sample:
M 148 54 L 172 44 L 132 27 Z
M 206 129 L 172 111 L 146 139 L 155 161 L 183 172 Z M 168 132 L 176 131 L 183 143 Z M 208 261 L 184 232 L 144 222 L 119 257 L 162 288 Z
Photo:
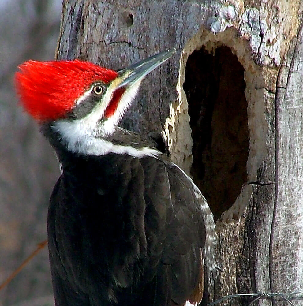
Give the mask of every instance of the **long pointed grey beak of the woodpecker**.
M 132 85 L 136 84 L 140 80 L 144 78 L 148 73 L 157 68 L 159 65 L 168 60 L 174 53 L 176 49 L 173 48 L 171 50 L 166 50 L 155 54 L 149 58 L 144 59 L 137 64 L 131 65 L 125 69 L 119 70 L 119 79 L 122 80 L 120 84 L 118 84 L 117 88 L 121 87 L 132 87 Z

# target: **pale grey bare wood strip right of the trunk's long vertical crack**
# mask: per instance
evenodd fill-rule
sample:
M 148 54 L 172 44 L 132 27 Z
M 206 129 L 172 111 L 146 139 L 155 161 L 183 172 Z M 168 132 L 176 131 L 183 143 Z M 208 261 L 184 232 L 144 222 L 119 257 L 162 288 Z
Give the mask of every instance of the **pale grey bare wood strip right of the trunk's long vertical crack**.
M 303 30 L 276 91 L 276 190 L 271 228 L 272 291 L 303 288 Z M 286 83 L 284 83 L 286 81 Z M 284 84 L 283 84 L 284 83 Z M 301 305 L 301 300 L 297 305 Z M 278 305 L 278 304 L 274 304 Z

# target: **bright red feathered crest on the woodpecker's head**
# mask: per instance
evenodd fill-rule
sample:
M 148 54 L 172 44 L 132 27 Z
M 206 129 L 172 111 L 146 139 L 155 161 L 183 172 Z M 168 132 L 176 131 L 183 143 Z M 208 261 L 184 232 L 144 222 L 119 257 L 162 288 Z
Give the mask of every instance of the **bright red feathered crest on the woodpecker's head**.
M 24 109 L 38 121 L 64 118 L 77 99 L 97 81 L 109 83 L 118 73 L 90 62 L 27 61 L 15 75 Z

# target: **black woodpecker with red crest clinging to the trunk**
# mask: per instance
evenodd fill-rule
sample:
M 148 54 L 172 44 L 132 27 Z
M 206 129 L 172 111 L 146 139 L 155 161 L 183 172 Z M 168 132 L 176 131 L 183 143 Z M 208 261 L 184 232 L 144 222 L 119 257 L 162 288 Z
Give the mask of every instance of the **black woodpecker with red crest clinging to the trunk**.
M 47 218 L 56 306 L 198 304 L 214 221 L 155 142 L 118 123 L 174 50 L 114 71 L 80 60 L 19 65 L 21 104 L 61 164 Z

